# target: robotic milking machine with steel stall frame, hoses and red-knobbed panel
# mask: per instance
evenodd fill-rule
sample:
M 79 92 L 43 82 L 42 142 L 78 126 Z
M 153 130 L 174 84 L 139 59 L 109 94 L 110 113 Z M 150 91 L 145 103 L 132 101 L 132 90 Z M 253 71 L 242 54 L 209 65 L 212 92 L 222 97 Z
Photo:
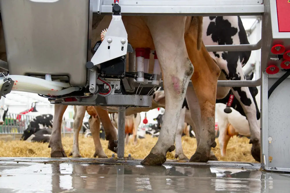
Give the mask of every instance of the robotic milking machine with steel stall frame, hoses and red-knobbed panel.
M 156 53 L 149 74 L 151 51 L 131 47 L 121 15 L 261 16 L 262 39 L 257 44 L 206 48 L 261 49 L 261 78 L 218 81 L 218 86 L 261 85 L 261 166 L 290 171 L 290 1 L 0 0 L 0 6 L 7 53 L 7 63 L 0 62 L 1 96 L 23 91 L 48 98 L 51 104 L 119 106 L 118 158 L 124 157 L 122 110 L 151 106 L 150 93 L 139 95 L 138 87 L 162 86 Z M 112 20 L 91 50 L 93 14 L 112 15 Z

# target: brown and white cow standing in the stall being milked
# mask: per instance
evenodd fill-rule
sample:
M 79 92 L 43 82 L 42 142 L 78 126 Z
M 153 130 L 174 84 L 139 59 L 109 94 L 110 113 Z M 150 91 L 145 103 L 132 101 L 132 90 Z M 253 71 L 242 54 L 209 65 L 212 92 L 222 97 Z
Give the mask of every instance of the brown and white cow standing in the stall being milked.
M 92 47 L 100 39 L 100 32 L 108 27 L 110 21 L 111 16 L 93 15 Z M 161 165 L 166 161 L 166 152 L 175 149 L 177 123 L 190 78 L 197 94 L 195 95 L 193 88 L 189 88 L 187 98 L 189 101 L 200 102 L 201 108 L 197 108 L 200 109 L 198 113 L 203 117 L 200 131 L 204 130 L 204 133 L 200 134 L 203 140 L 190 161 L 208 161 L 211 147 L 216 146 L 215 135 L 211 128 L 215 124 L 216 87 L 220 69 L 202 43 L 202 17 L 123 16 L 122 21 L 128 33 L 128 42 L 132 47 L 147 47 L 156 51 L 167 98 L 166 114 L 160 136 L 149 155 L 141 163 Z M 194 76 L 192 76 L 193 66 L 196 69 Z M 198 103 L 189 105 L 191 115 L 196 107 Z M 51 157 L 66 157 L 61 144 L 60 131 L 62 116 L 66 108 L 67 105 L 55 105 L 53 132 L 49 145 Z M 99 107 L 95 109 L 104 125 L 109 148 L 112 148 L 112 143 L 117 139 L 116 131 L 113 126 L 104 124 L 103 120 L 108 117 L 108 113 Z

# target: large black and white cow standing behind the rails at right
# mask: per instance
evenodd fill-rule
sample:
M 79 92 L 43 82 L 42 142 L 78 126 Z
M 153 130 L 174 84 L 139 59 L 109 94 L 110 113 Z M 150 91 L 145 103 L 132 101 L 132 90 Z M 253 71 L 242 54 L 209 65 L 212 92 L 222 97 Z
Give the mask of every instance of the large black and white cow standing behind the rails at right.
M 249 44 L 247 40 L 247 34 L 242 25 L 242 21 L 239 16 L 210 16 L 204 17 L 204 30 L 203 31 L 203 42 L 205 45 L 231 45 L 231 44 Z M 223 73 L 220 74 L 218 80 L 245 80 L 246 77 L 242 71 L 242 65 L 245 65 L 249 60 L 251 51 L 247 52 L 209 52 L 213 60 L 215 60 Z M 196 72 L 196 70 L 195 70 Z M 193 74 L 193 77 L 194 74 Z M 194 85 L 194 82 L 193 82 Z M 195 87 L 194 87 L 195 89 Z M 251 154 L 256 161 L 260 161 L 260 127 L 256 121 L 256 117 L 260 116 L 260 112 L 257 110 L 257 106 L 251 92 L 248 87 L 218 87 L 217 88 L 217 99 L 225 98 L 226 102 L 228 100 L 227 95 L 230 95 L 229 91 L 232 91 L 236 99 L 239 101 L 240 106 L 244 114 L 247 116 L 247 120 L 250 125 L 251 140 L 252 145 Z M 156 99 L 155 93 L 155 99 Z M 199 92 L 196 92 L 197 96 Z M 186 94 L 186 97 L 190 95 Z M 194 95 L 191 94 L 191 95 Z M 153 96 L 154 97 L 154 96 Z M 190 100 L 186 98 L 190 103 L 197 104 L 198 101 Z M 200 97 L 198 97 L 200 100 Z M 159 99 L 157 99 L 159 100 Z M 204 105 L 201 101 L 199 104 Z M 208 116 L 199 112 L 190 113 L 193 121 L 193 130 L 197 136 L 204 135 L 200 132 L 200 120 L 207 119 Z M 212 127 L 214 128 L 214 127 Z M 212 129 L 212 132 L 214 130 Z M 200 141 L 200 139 L 202 141 Z M 203 144 L 203 137 L 197 137 L 197 148 L 199 144 Z M 209 145 L 209 144 L 208 144 Z M 204 157 L 204 156 L 202 156 Z M 204 159 L 204 158 L 201 158 Z

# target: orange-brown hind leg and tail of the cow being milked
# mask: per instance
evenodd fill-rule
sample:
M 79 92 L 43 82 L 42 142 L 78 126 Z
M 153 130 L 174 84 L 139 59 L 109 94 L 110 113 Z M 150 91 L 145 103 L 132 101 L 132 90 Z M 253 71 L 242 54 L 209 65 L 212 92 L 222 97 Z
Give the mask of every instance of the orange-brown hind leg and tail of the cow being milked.
M 212 156 L 211 147 L 216 146 L 214 129 L 215 99 L 220 68 L 213 61 L 203 44 L 201 49 L 197 50 L 196 36 L 197 30 L 193 27 L 189 28 L 188 33 L 184 36 L 187 52 L 194 66 L 194 73 L 191 77 L 193 87 L 188 87 L 186 99 L 187 101 L 192 101 L 190 96 L 196 93 L 196 97 L 200 104 L 193 105 L 189 103 L 191 117 L 195 123 L 196 135 L 198 136 L 197 149 L 189 161 L 207 162 L 210 156 Z M 191 93 L 188 94 L 188 92 Z M 195 119 L 193 115 L 194 113 L 198 115 L 199 110 L 200 117 Z

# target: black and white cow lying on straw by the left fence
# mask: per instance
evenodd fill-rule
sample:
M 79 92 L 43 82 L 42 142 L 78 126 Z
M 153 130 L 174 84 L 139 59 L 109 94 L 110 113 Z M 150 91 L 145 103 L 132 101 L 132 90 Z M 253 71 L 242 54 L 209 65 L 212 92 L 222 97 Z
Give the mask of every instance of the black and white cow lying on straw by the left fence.
M 51 114 L 44 114 L 35 117 L 28 125 L 28 128 L 23 131 L 20 140 L 49 142 L 52 132 L 52 119 L 53 116 Z

